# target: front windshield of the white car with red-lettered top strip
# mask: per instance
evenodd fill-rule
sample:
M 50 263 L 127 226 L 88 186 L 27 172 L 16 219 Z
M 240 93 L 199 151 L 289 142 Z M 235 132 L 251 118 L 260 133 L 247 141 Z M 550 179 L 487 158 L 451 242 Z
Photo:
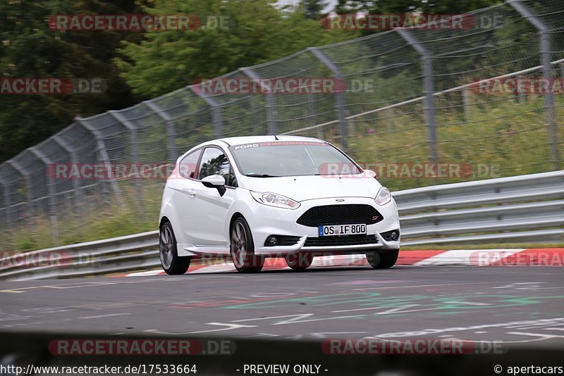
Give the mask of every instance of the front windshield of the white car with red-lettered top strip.
M 230 149 L 240 173 L 251 177 L 362 173 L 350 158 L 324 142 L 257 142 Z

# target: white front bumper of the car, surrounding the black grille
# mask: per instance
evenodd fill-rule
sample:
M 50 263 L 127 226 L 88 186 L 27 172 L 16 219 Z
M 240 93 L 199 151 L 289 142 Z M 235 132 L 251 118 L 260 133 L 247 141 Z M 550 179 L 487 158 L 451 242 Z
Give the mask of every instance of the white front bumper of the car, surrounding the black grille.
M 374 243 L 335 246 L 305 246 L 307 239 L 319 239 L 318 228 L 299 225 L 298 218 L 314 206 L 336 205 L 336 198 L 314 199 L 301 202 L 295 210 L 274 208 L 254 202 L 247 207 L 243 216 L 251 228 L 255 253 L 263 256 L 284 256 L 288 253 L 321 252 L 321 253 L 362 253 L 377 249 L 391 250 L 400 248 L 400 239 L 396 242 L 386 241 L 381 233 L 400 230 L 400 219 L 396 202 L 378 206 L 374 199 L 364 197 L 345 197 L 345 204 L 365 204 L 374 207 L 384 218 L 378 223 L 367 225 L 367 235 L 374 236 Z M 271 235 L 299 237 L 296 244 L 288 246 L 264 246 L 266 238 Z M 327 238 L 327 237 L 325 237 Z

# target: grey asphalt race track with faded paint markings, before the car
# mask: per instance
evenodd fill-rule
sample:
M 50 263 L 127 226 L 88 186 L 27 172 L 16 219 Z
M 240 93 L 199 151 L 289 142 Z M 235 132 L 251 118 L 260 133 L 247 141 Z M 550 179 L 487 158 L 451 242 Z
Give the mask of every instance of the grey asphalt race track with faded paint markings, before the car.
M 2 332 L 257 339 L 455 337 L 564 344 L 551 267 L 324 268 L 3 282 Z

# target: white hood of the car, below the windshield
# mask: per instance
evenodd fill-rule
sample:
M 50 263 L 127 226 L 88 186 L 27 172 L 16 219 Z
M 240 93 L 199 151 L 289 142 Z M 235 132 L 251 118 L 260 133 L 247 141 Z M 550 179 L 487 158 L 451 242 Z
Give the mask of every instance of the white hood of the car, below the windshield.
M 376 197 L 381 184 L 373 177 L 336 175 L 241 177 L 240 186 L 255 192 L 274 192 L 295 201 L 331 197 Z

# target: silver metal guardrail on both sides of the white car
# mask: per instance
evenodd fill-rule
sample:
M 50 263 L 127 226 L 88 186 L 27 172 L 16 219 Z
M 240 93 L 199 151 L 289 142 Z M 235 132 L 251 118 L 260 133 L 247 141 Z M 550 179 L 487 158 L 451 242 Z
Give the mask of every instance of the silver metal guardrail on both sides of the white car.
M 564 170 L 393 193 L 402 245 L 564 242 Z M 0 279 L 35 280 L 147 270 L 160 265 L 158 231 L 3 258 Z M 48 265 L 20 265 L 57 256 Z

